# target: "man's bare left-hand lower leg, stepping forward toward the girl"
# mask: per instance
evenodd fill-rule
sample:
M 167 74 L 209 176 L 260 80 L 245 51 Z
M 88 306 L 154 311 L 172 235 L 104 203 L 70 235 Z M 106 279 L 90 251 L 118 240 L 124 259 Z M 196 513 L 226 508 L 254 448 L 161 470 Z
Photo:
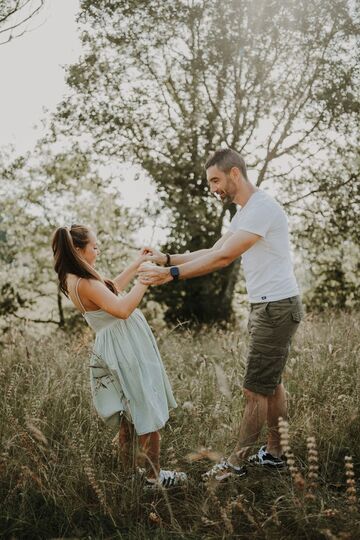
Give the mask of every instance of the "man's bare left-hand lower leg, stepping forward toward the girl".
M 257 441 L 268 415 L 268 398 L 244 388 L 246 397 L 245 411 L 240 427 L 239 441 L 228 461 L 232 465 L 241 465 L 249 455 L 252 445 Z

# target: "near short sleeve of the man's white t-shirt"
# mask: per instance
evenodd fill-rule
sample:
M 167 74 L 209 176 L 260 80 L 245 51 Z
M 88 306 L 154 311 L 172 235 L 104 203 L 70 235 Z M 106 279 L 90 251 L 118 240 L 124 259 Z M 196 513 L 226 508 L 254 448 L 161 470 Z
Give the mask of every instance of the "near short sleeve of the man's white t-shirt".
M 230 223 L 229 230 L 247 231 L 265 237 L 275 219 L 276 211 L 271 205 L 259 204 L 243 214 L 237 213 Z

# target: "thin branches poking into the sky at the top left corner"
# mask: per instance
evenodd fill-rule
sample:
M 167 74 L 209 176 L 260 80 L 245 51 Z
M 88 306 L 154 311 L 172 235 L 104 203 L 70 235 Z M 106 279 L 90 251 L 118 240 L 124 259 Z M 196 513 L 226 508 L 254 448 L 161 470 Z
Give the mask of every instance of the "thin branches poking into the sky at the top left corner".
M 45 0 L 2 0 L 0 3 L 0 45 L 20 37 L 27 24 L 44 7 Z

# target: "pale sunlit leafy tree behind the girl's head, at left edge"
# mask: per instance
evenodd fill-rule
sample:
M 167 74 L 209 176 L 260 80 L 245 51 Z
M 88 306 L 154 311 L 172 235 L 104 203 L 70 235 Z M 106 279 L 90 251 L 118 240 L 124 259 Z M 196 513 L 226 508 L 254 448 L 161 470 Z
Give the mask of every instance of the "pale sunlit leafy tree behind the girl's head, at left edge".
M 66 308 L 51 252 L 55 228 L 95 227 L 102 247 L 99 267 L 111 277 L 133 251 L 134 219 L 121 206 L 113 179 L 105 183 L 78 146 L 59 151 L 42 141 L 31 157 L 3 156 L 2 162 L 0 314 L 63 327 Z

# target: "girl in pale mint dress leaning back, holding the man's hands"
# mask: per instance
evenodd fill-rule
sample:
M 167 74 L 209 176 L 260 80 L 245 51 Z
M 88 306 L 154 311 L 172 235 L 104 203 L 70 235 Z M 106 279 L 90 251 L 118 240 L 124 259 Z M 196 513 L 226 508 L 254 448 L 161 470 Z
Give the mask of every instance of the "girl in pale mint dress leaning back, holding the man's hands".
M 132 465 L 136 434 L 145 455 L 146 484 L 184 483 L 185 473 L 162 470 L 159 463 L 159 429 L 176 402 L 154 336 L 136 309 L 147 286 L 138 282 L 130 292 L 119 295 L 147 256 L 140 255 L 110 281 L 95 270 L 97 239 L 88 227 L 58 228 L 52 248 L 60 290 L 96 332 L 91 360 L 93 401 L 105 422 L 119 426 L 124 461 Z

